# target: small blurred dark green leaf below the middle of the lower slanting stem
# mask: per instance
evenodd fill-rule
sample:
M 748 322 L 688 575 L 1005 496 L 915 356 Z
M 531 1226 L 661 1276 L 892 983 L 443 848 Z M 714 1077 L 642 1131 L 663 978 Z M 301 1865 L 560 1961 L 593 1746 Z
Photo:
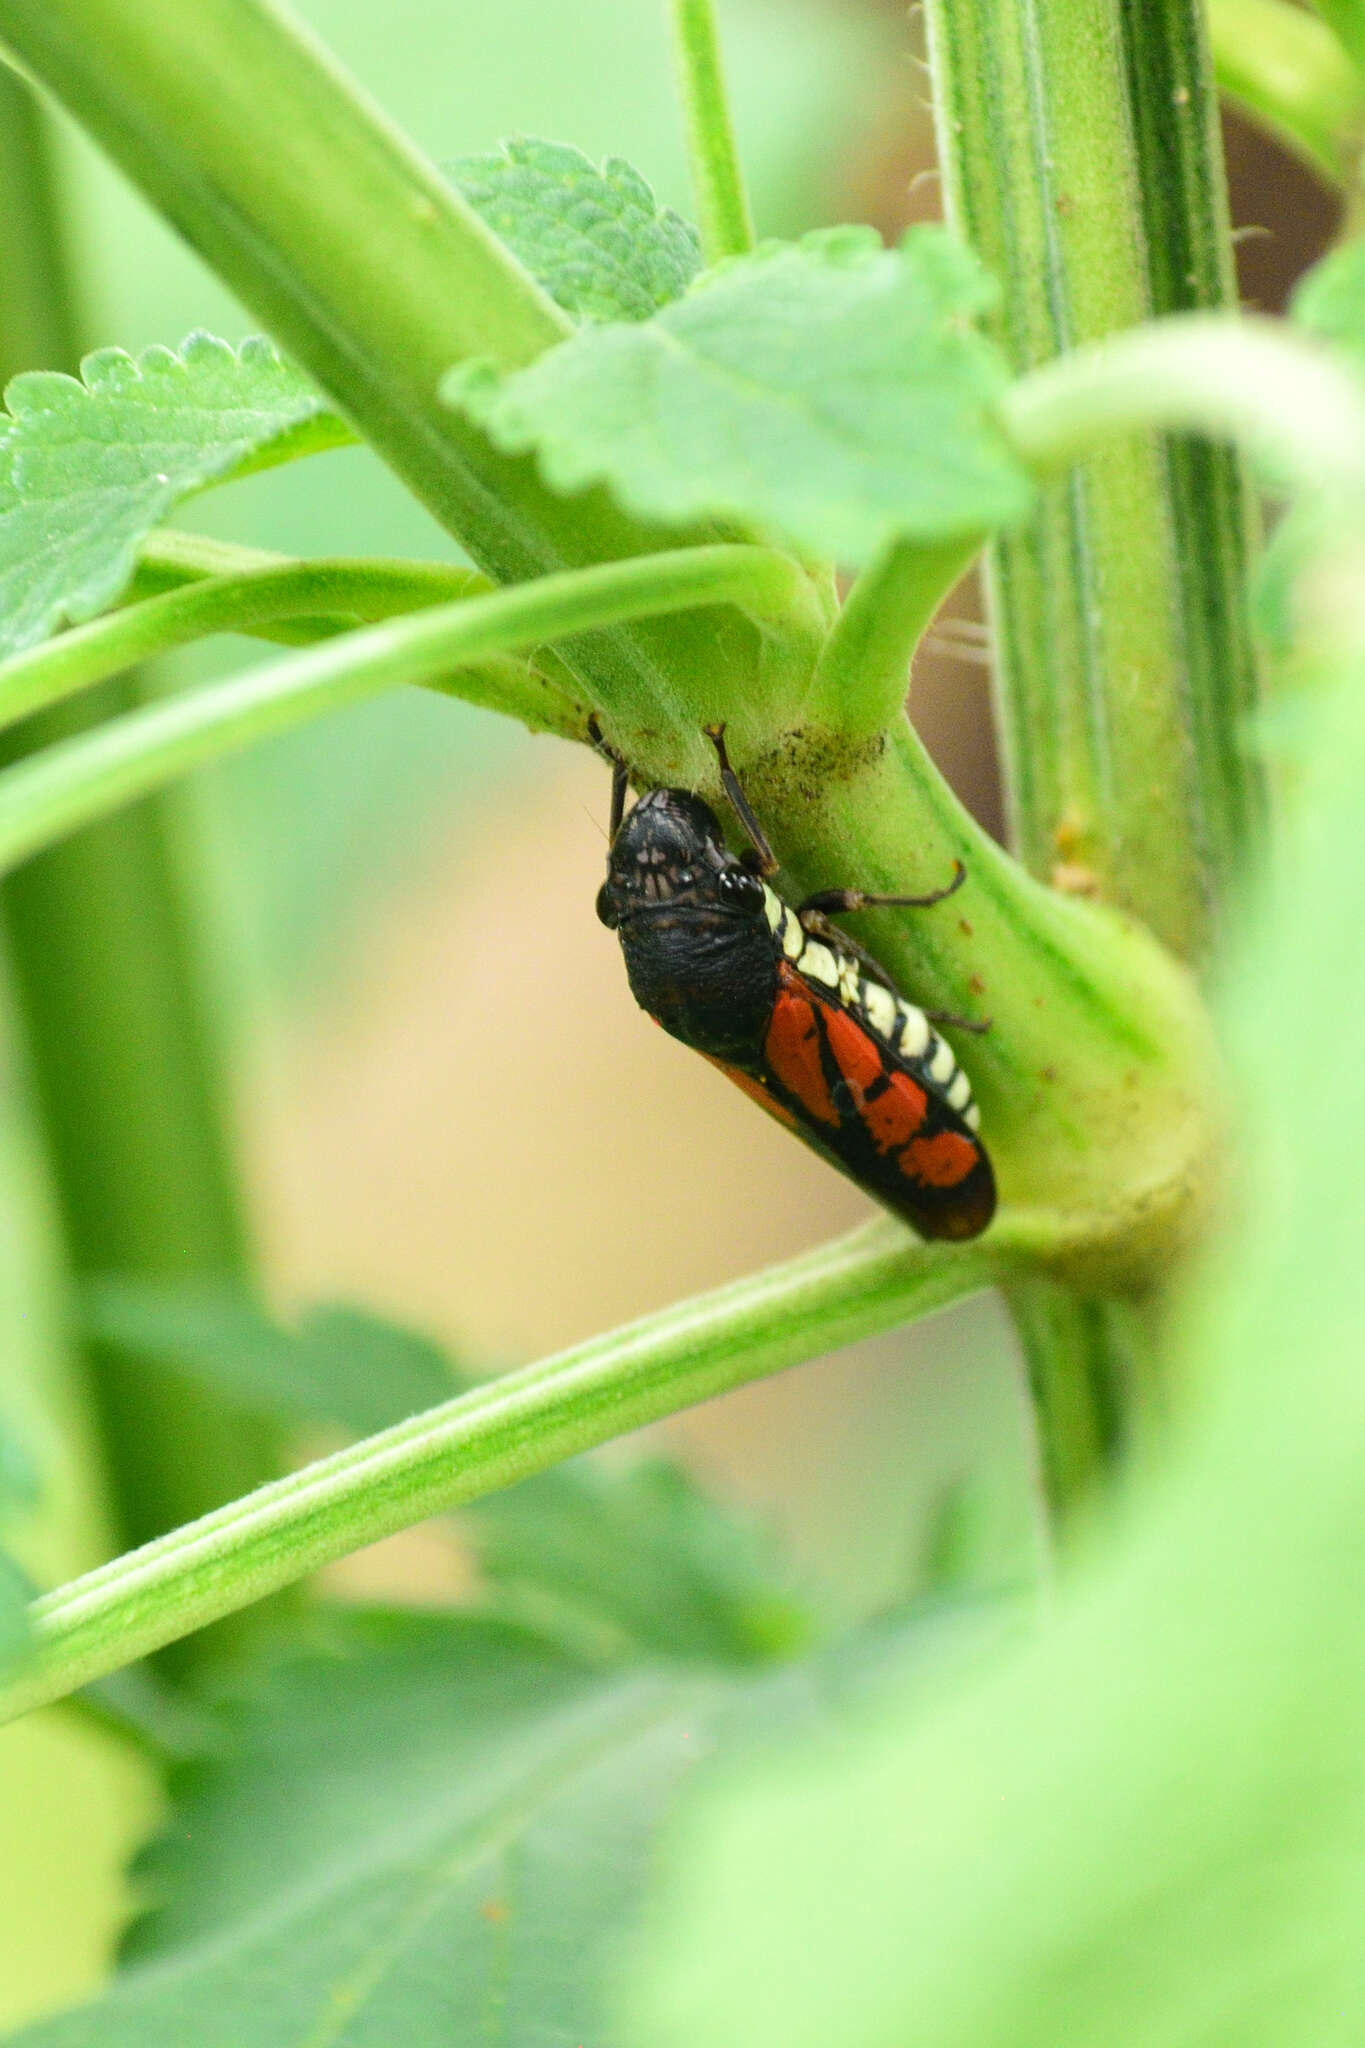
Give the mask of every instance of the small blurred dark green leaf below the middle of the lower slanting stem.
M 577 1458 L 467 1509 L 485 1581 L 606 1647 L 712 1663 L 792 1655 L 812 1620 L 769 1544 L 663 1462 Z

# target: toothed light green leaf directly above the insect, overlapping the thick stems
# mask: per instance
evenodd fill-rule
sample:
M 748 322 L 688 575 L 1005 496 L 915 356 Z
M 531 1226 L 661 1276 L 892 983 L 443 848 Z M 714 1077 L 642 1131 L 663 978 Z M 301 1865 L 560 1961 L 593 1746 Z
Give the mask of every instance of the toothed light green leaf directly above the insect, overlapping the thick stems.
M 737 518 L 841 561 L 1019 518 L 1029 479 L 970 328 L 995 285 L 943 229 L 898 250 L 843 227 L 718 264 L 634 326 L 589 328 L 512 375 L 460 365 L 450 403 L 546 483 L 608 483 L 655 520 Z

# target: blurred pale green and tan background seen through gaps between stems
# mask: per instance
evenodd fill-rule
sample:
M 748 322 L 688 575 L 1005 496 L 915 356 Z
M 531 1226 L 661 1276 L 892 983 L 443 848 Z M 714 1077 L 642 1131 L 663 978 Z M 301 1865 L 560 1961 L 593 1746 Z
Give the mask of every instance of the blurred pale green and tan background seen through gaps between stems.
M 628 158 L 690 209 L 661 0 L 307 0 L 303 14 L 438 162 L 546 135 Z M 898 4 L 726 0 L 722 29 L 763 233 L 851 217 L 894 233 L 935 213 L 923 74 Z M 1312 240 L 1312 186 L 1246 137 L 1238 147 L 1250 190 L 1271 164 L 1285 209 L 1310 207 Z M 88 346 L 250 332 L 65 125 L 61 166 Z M 1250 295 L 1271 301 L 1293 250 L 1250 248 L 1263 264 Z M 188 522 L 297 553 L 450 553 L 358 451 L 239 483 Z M 970 596 L 954 608 L 966 614 Z M 219 641 L 164 680 L 256 657 Z M 929 655 L 915 692 L 921 729 L 993 821 L 980 666 Z M 252 1223 L 282 1309 L 356 1300 L 501 1366 L 868 1212 L 632 1008 L 591 911 L 606 801 L 585 750 L 420 692 L 260 748 L 178 799 Z M 53 1583 L 98 1559 L 104 1536 L 8 1036 L 0 1397 L 43 1473 L 25 1563 Z M 835 1612 L 905 1593 L 950 1509 L 960 1569 L 1001 1579 L 1031 1565 L 1023 1415 L 995 1303 L 655 1436 L 769 1518 Z M 438 1546 L 381 1552 L 340 1583 L 446 1591 Z M 121 1864 L 149 1819 L 149 1782 L 113 1737 L 61 1710 L 0 1735 L 0 2025 L 96 1978 L 125 1907 Z

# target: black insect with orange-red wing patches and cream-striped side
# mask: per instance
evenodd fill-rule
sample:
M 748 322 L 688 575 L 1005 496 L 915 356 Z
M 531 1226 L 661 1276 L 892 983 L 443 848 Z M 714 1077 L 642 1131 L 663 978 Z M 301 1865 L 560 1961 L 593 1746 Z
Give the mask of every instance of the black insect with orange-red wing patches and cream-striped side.
M 778 866 L 708 727 L 724 791 L 749 834 L 729 852 L 716 813 L 686 788 L 653 788 L 626 813 L 616 760 L 598 915 L 620 938 L 636 1004 L 704 1053 L 747 1096 L 849 1174 L 921 1237 L 976 1237 L 995 1176 L 968 1077 L 933 1022 L 831 915 L 921 897 L 827 889 L 796 909 L 767 885 Z M 980 1030 L 982 1026 L 968 1026 Z

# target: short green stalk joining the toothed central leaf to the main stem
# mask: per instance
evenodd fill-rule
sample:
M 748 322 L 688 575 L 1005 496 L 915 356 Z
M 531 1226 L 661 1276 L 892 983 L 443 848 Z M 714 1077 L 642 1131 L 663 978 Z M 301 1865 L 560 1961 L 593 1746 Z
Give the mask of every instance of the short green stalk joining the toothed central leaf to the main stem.
M 905 709 L 915 647 L 978 551 L 980 541 L 896 541 L 872 561 L 825 641 L 802 717 L 849 743 L 886 731 Z

